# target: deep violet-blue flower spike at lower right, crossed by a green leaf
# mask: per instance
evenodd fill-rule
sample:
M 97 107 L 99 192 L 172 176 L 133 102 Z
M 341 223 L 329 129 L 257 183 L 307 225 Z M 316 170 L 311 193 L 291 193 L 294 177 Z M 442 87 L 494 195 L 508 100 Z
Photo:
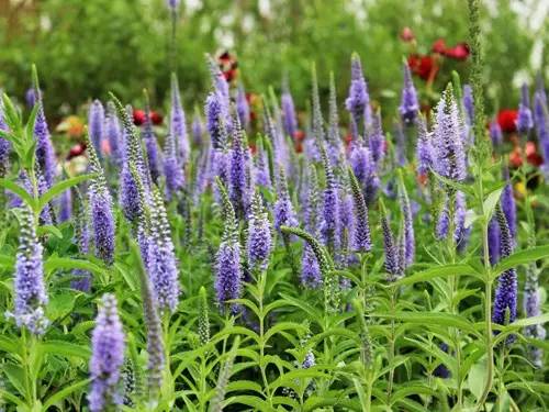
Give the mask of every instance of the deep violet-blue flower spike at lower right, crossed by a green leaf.
M 501 232 L 501 254 L 505 258 L 511 256 L 513 252 L 513 238 L 511 237 L 505 214 L 500 207 L 496 208 L 495 218 Z M 497 279 L 492 322 L 503 325 L 506 322 L 513 323 L 515 321 L 517 294 L 516 269 L 511 268 L 505 270 Z M 513 342 L 513 336 L 507 337 L 507 343 L 511 342 Z

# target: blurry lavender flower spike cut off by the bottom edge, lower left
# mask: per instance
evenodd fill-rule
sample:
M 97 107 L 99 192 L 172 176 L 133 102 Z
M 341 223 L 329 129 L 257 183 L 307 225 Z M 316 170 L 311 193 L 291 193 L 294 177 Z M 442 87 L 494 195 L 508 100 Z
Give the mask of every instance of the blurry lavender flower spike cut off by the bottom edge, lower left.
M 122 402 L 120 379 L 124 346 L 124 331 L 116 310 L 116 298 L 105 293 L 101 299 L 91 336 L 91 388 L 88 393 L 91 412 L 108 411 Z

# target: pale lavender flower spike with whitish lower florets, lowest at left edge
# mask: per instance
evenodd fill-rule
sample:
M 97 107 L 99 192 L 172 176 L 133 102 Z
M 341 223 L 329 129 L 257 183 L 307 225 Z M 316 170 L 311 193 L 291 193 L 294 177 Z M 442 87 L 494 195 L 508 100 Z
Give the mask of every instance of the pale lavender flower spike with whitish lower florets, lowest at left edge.
M 21 213 L 20 240 L 15 258 L 13 316 L 19 327 L 26 327 L 35 335 L 42 335 L 48 325 L 44 314 L 47 294 L 42 254 L 43 248 L 36 236 L 33 214 L 25 207 Z

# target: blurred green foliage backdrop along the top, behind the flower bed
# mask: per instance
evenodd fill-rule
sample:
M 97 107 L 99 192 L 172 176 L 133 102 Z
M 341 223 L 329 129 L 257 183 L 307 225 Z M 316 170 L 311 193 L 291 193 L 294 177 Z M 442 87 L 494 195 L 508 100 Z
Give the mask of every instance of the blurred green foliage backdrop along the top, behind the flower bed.
M 547 67 L 549 31 L 539 15 L 547 13 L 545 3 L 484 2 L 491 110 L 496 100 L 515 104 L 518 83 Z M 400 38 L 403 27 L 415 34 L 416 52 L 428 54 L 438 38 L 467 42 L 467 24 L 466 0 L 182 0 L 177 71 L 187 107 L 201 104 L 210 87 L 204 54 L 228 49 L 248 91 L 279 89 L 285 73 L 298 107 L 305 109 L 311 63 L 325 94 L 335 71 L 343 103 L 356 51 L 372 98 L 386 113 L 397 105 L 401 62 L 411 53 Z M 169 88 L 169 34 L 166 0 L 0 0 L 0 88 L 22 98 L 34 62 L 52 118 L 90 98 L 104 99 L 109 90 L 138 101 L 147 88 L 161 105 Z M 468 65 L 444 62 L 433 89 L 449 80 L 451 69 L 467 76 Z

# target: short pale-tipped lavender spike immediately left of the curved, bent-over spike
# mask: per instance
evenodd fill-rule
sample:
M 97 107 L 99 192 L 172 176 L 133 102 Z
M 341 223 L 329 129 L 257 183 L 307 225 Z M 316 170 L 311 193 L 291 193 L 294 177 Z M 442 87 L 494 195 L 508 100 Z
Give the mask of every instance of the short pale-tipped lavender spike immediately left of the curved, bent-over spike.
M 265 270 L 271 252 L 271 223 L 265 212 L 261 197 L 256 192 L 251 203 L 251 218 L 248 225 L 247 253 L 251 268 Z

